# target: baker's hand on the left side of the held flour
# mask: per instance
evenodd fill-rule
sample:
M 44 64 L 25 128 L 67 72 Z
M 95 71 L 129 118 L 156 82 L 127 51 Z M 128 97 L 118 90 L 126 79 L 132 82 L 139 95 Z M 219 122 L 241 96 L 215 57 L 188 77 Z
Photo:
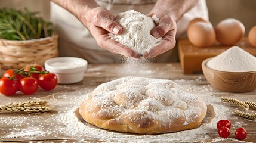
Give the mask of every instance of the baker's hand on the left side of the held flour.
M 87 15 L 82 15 L 82 17 L 79 19 L 81 19 L 82 23 L 87 26 L 98 45 L 102 48 L 115 54 L 124 55 L 125 57 L 141 57 L 133 49 L 110 39 L 108 33 L 111 32 L 113 34 L 121 34 L 122 26 L 113 21 L 115 16 L 106 8 L 94 8 L 90 11 L 90 13 L 87 13 Z

